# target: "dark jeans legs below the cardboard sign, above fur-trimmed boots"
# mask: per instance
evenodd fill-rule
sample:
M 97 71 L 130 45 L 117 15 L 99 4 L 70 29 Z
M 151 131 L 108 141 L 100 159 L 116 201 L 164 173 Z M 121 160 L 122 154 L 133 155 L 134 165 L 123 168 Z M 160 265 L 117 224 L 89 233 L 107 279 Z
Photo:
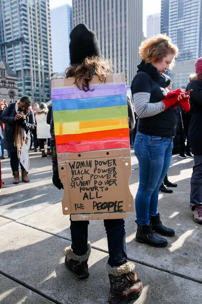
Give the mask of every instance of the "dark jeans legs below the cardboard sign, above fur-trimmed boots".
M 71 220 L 71 247 L 76 255 L 83 255 L 87 252 L 88 224 L 88 220 Z M 127 260 L 124 219 L 105 219 L 104 225 L 108 238 L 110 256 L 108 263 L 111 267 L 121 266 L 126 263 Z

